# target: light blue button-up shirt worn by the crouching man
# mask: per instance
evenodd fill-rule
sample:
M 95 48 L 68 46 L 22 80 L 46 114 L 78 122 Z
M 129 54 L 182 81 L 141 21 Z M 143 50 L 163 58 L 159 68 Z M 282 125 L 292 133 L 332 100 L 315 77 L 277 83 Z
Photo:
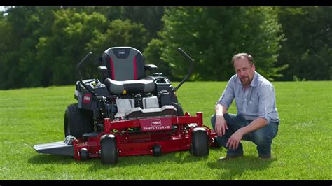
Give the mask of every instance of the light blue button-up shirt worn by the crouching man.
M 263 117 L 268 120 L 268 123 L 270 121 L 279 123 L 275 106 L 275 87 L 256 71 L 247 89 L 244 89 L 236 74 L 232 76 L 217 103 L 228 109 L 233 99 L 235 99 L 237 114 L 244 119 L 255 120 L 257 117 Z

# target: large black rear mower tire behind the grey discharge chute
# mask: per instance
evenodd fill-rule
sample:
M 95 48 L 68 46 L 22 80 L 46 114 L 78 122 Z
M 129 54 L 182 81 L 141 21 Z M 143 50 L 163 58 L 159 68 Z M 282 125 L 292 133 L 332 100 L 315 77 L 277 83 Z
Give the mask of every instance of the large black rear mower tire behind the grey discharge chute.
M 83 134 L 94 130 L 91 110 L 78 108 L 78 103 L 71 104 L 64 112 L 64 137 L 71 135 L 82 138 Z

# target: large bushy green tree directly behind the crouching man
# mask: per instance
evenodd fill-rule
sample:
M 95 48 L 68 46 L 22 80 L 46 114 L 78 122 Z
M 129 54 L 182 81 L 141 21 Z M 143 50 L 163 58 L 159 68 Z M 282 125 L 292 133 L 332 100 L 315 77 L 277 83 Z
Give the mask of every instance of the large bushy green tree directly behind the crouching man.
M 194 80 L 228 80 L 237 52 L 253 55 L 263 76 L 279 75 L 273 68 L 282 34 L 272 7 L 170 7 L 162 20 L 160 36 L 166 46 L 162 59 L 177 78 L 188 69 L 179 47 L 195 59 Z

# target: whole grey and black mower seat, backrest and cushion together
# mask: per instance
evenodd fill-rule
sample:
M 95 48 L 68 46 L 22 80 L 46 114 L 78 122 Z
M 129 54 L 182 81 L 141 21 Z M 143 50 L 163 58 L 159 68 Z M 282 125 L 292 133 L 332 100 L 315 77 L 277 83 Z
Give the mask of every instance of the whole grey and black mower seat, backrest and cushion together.
M 113 47 L 105 50 L 102 59 L 108 69 L 109 78 L 104 83 L 112 94 L 152 92 L 155 83 L 146 76 L 144 57 L 132 47 Z

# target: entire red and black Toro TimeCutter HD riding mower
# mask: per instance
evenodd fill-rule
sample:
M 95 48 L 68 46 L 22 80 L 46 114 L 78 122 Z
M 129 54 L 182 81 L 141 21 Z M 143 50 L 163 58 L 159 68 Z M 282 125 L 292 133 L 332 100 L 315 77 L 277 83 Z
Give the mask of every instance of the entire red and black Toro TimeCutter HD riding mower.
M 193 70 L 193 59 L 178 50 L 191 65 L 177 87 L 162 73 L 146 76 L 146 70 L 153 72 L 157 66 L 144 64 L 141 52 L 131 47 L 105 50 L 100 58 L 105 66 L 98 67 L 102 80 L 83 80 L 80 69 L 92 55 L 88 53 L 76 66 L 78 103 L 65 111 L 65 140 L 34 145 L 34 149 L 77 160 L 100 157 L 102 164 L 116 164 L 123 156 L 181 150 L 209 155 L 209 147 L 216 145 L 215 132 L 203 124 L 201 112 L 184 113 L 175 94 Z

